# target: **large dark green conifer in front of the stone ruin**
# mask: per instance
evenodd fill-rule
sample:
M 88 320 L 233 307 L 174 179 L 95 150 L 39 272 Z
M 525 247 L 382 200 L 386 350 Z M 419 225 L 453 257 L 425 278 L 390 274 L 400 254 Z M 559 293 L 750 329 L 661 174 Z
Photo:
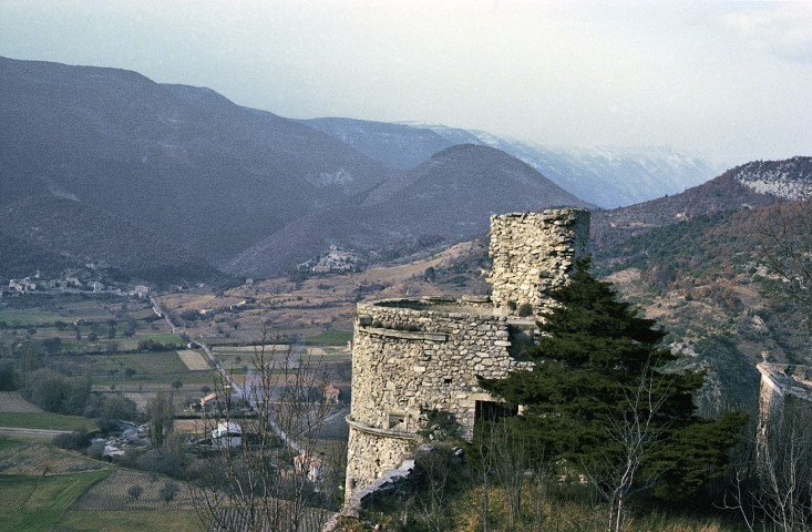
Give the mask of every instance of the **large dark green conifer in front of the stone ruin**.
M 511 422 L 530 436 L 526 454 L 534 463 L 564 463 L 596 484 L 611 483 L 634 451 L 634 482 L 646 484 L 637 488 L 690 497 L 723 471 L 744 417 L 696 416 L 692 395 L 703 374 L 674 369 L 680 357 L 662 346 L 667 332 L 588 268 L 588 259 L 578 260 L 571 283 L 549 294 L 556 306 L 543 316 L 528 352 L 535 369 L 480 382 L 523 407 Z M 641 437 L 637 449 L 624 430 Z

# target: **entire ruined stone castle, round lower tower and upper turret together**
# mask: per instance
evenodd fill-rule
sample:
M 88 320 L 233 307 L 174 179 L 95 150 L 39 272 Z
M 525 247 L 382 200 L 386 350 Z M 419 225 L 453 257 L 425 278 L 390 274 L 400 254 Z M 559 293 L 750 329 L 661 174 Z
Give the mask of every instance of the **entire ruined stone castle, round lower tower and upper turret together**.
M 491 297 L 358 304 L 346 502 L 413 454 L 425 411 L 453 413 L 471 437 L 496 403 L 476 377 L 521 367 L 517 340 L 532 337 L 546 293 L 566 283 L 588 235 L 587 211 L 494 215 Z

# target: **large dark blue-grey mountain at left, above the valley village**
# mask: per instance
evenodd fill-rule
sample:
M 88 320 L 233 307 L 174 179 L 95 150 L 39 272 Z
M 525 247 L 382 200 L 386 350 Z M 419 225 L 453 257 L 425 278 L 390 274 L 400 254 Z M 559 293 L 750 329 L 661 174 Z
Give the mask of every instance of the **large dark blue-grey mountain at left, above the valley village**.
M 0 58 L 0 204 L 74 198 L 214 259 L 389 175 L 304 124 L 115 69 Z

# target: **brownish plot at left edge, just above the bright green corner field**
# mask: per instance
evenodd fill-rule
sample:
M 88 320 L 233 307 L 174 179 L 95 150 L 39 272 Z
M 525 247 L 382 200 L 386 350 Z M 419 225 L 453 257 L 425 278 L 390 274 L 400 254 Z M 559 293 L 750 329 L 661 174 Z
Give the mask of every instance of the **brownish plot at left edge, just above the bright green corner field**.
M 0 450 L 0 474 L 42 474 L 48 466 L 48 474 L 81 473 L 102 471 L 109 466 L 81 454 L 62 451 L 44 443 L 20 442 Z

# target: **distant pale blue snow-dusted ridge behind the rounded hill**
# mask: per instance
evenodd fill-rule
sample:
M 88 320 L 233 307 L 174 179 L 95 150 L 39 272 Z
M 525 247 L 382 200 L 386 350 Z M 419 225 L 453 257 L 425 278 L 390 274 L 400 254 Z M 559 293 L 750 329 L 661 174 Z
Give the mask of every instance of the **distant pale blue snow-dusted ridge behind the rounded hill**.
M 722 165 L 670 147 L 542 146 L 444 125 L 389 124 L 351 119 L 302 121 L 392 167 L 408 168 L 454 144 L 496 147 L 599 207 L 614 208 L 675 194 L 719 175 Z

